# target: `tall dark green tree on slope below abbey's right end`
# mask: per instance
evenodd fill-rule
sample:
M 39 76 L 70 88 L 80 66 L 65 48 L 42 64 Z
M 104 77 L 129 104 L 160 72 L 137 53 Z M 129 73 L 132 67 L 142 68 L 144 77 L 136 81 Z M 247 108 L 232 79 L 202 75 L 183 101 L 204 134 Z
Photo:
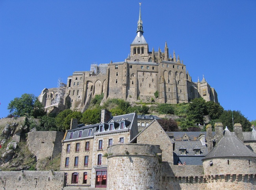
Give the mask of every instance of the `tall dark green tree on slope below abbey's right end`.
M 202 98 L 195 98 L 188 106 L 187 120 L 190 122 L 204 123 L 204 115 L 207 115 L 206 101 Z

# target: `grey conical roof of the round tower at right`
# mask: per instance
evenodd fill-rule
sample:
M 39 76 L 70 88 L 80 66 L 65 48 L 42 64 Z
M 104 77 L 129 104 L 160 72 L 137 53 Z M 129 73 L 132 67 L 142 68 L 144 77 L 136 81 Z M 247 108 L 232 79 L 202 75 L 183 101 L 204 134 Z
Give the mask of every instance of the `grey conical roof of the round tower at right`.
M 223 138 L 204 159 L 217 157 L 256 157 L 256 153 L 247 148 L 226 128 L 223 132 Z

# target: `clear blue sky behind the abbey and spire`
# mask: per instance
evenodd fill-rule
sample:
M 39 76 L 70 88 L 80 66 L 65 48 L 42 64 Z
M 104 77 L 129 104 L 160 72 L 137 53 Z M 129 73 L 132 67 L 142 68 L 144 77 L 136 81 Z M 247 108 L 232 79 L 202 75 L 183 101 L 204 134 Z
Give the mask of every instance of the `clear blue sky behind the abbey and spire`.
M 256 119 L 256 1 L 0 1 L 0 117 L 23 93 L 67 82 L 90 64 L 124 61 L 139 18 L 150 51 L 175 50 L 225 110 Z

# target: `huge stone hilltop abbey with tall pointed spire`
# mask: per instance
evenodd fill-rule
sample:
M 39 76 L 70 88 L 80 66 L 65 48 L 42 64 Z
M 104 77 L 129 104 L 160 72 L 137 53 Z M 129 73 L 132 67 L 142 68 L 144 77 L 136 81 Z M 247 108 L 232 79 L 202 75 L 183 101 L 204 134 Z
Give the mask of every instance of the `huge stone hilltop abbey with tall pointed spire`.
M 158 97 L 154 93 L 158 92 Z M 141 8 L 137 23 L 137 35 L 130 44 L 130 54 L 124 61 L 109 64 L 92 64 L 90 71 L 75 71 L 68 77 L 67 84 L 59 81 L 58 88 L 45 88 L 39 100 L 48 112 L 68 108 L 85 111 L 95 95 L 104 93 L 108 98 L 138 100 L 177 104 L 189 102 L 198 97 L 206 101 L 218 102 L 214 88 L 202 79 L 193 82 L 186 65 L 169 54 L 167 42 L 164 52 L 149 51 L 143 36 Z

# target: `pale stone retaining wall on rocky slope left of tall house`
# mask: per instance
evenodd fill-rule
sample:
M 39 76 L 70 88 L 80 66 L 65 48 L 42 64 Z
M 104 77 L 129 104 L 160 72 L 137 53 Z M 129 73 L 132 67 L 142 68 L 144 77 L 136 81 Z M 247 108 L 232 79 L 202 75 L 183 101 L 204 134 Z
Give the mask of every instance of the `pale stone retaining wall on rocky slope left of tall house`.
M 35 131 L 28 133 L 28 149 L 37 160 L 45 157 L 54 157 L 61 153 L 61 139 L 64 137 L 63 132 L 57 131 Z

